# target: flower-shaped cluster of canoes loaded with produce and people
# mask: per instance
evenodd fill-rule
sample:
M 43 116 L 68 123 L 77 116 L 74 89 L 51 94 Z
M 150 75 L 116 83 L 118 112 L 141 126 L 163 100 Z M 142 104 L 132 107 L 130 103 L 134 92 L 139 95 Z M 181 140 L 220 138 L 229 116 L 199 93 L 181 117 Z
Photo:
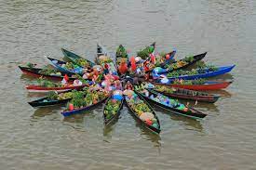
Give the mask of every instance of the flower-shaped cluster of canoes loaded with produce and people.
M 120 45 L 115 57 L 97 45 L 95 63 L 61 50 L 66 61 L 47 58 L 51 67 L 40 69 L 32 63 L 19 66 L 24 74 L 38 78 L 37 85 L 26 86 L 29 92 L 46 93 L 45 98 L 29 102 L 31 106 L 66 104 L 61 114 L 71 116 L 104 103 L 104 124 L 110 125 L 119 119 L 126 103 L 135 120 L 156 134 L 161 131 L 160 121 L 148 102 L 171 113 L 202 119 L 207 114 L 177 98 L 195 100 L 195 104 L 216 102 L 220 95 L 200 91 L 226 88 L 232 81 L 207 79 L 231 72 L 235 67 L 217 67 L 202 61 L 207 53 L 176 60 L 176 49 L 157 53 L 155 43 L 139 50 L 136 56 L 130 56 L 125 46 Z

